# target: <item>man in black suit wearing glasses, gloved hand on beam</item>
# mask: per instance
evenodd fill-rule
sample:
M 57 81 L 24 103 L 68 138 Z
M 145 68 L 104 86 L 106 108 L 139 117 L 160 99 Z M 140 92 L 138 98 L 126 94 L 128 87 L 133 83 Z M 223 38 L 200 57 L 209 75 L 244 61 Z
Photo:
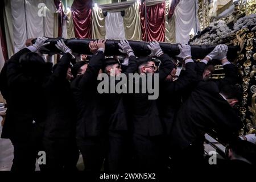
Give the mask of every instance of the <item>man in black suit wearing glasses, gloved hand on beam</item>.
M 174 64 L 168 55 L 163 54 L 156 47 L 160 47 L 157 42 L 151 42 L 148 45 L 148 48 L 152 52 L 150 56 L 156 56 L 162 60 L 159 71 L 157 72 L 159 73 L 159 82 L 162 82 L 172 71 Z M 152 77 L 152 85 L 155 87 L 155 62 L 149 56 L 139 57 L 137 61 L 139 75 L 145 75 L 147 79 L 148 77 Z M 142 80 L 139 82 L 139 86 L 142 88 L 146 84 Z M 158 107 L 156 105 L 157 100 L 148 100 L 150 93 L 142 93 L 141 91 L 140 93 L 129 95 L 129 120 L 131 121 L 133 139 L 134 168 L 140 171 L 162 171 L 167 169 L 167 167 L 164 166 L 164 128 L 159 118 Z

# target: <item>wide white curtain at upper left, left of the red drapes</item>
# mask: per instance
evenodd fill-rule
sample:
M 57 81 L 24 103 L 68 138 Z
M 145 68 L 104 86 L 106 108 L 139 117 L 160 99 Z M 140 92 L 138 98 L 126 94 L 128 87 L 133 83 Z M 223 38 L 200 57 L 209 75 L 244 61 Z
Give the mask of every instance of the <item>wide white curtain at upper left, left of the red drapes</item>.
M 44 3 L 46 6 L 38 6 Z M 13 47 L 14 53 L 26 47 L 28 38 L 39 36 L 56 36 L 56 7 L 54 0 L 11 0 L 10 12 L 13 22 Z M 45 16 L 39 16 L 40 9 L 43 8 Z M 43 13 L 42 11 L 42 13 Z

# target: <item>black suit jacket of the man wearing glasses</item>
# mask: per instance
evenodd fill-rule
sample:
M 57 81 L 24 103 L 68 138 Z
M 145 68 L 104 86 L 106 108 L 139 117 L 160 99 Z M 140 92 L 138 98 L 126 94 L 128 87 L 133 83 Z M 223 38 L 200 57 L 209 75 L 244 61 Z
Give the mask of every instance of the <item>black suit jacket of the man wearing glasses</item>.
M 174 68 L 174 64 L 166 54 L 161 55 L 160 59 L 162 63 L 158 73 L 159 82 L 162 82 Z M 154 78 L 152 80 L 154 81 Z M 154 84 L 153 82 L 152 85 Z M 149 95 L 149 93 L 134 93 L 129 96 L 129 117 L 132 132 L 144 136 L 162 135 L 164 134 L 164 126 L 159 117 L 157 100 L 148 100 Z

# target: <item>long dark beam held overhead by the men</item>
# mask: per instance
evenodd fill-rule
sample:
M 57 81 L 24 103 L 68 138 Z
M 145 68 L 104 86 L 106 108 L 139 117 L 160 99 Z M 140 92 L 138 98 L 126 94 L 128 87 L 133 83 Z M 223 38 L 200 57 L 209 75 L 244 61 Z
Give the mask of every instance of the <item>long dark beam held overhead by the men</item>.
M 49 38 L 47 42 L 50 42 L 46 49 L 43 49 L 43 53 L 59 53 L 59 49 L 55 47 L 57 40 L 63 38 Z M 36 39 L 32 40 L 34 43 Z M 84 55 L 91 55 L 89 49 L 89 43 L 91 40 L 94 39 L 79 39 L 79 38 L 72 38 L 72 39 L 63 39 L 65 44 L 72 49 L 72 52 L 84 54 Z M 105 55 L 106 56 L 113 56 L 113 55 L 123 55 L 121 52 L 118 51 L 119 40 L 106 40 L 106 49 Z M 129 44 L 135 53 L 135 56 L 147 56 L 151 53 L 150 49 L 148 49 L 147 45 L 148 42 L 142 41 L 134 41 L 129 40 Z M 159 42 L 160 47 L 162 48 L 164 53 L 167 53 L 169 56 L 174 57 L 180 53 L 178 44 L 170 44 L 170 43 L 162 43 Z M 216 45 L 190 45 L 191 46 L 191 54 L 192 59 L 203 59 L 209 52 L 211 52 Z M 237 52 L 239 51 L 238 46 L 228 46 L 228 59 L 233 61 L 237 57 Z

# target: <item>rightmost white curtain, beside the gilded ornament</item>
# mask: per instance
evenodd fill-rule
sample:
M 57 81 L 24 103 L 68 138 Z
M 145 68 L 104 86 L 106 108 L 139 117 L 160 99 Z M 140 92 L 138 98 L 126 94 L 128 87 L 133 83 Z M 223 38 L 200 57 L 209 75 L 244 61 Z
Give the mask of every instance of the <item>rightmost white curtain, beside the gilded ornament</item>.
M 200 31 L 197 0 L 181 0 L 174 11 L 176 43 L 188 43 L 189 32 Z

